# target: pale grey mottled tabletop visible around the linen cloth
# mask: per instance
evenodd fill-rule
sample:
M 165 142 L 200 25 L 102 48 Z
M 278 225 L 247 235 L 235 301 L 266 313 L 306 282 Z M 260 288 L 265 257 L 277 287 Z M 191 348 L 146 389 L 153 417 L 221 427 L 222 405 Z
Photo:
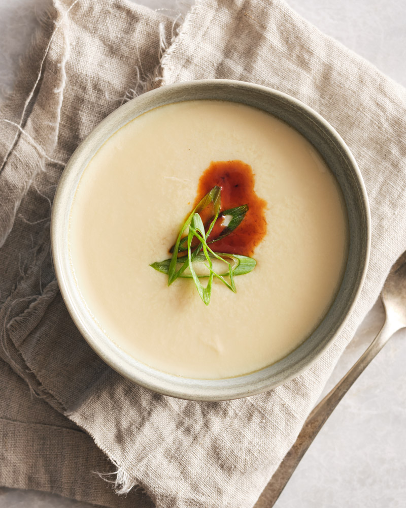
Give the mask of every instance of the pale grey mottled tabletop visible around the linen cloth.
M 188 9 L 185 2 L 177 4 L 177 0 L 139 3 L 168 9 L 169 15 Z M 288 3 L 324 33 L 406 86 L 405 0 Z M 48 0 L 0 0 L 0 98 L 10 90 L 18 57 L 29 44 L 36 25 L 35 11 L 47 4 Z M 337 364 L 324 393 L 359 357 L 383 319 L 378 302 Z M 296 469 L 277 508 L 406 506 L 405 339 L 406 332 L 398 332 L 335 409 Z M 0 508 L 74 506 L 90 505 L 47 493 L 0 489 Z

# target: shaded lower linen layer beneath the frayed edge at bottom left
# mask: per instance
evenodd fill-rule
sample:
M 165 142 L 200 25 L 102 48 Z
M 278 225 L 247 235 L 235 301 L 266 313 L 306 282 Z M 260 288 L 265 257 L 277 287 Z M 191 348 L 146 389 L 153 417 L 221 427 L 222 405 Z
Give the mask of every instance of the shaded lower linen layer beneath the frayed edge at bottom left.
M 0 485 L 35 489 L 78 501 L 123 508 L 153 508 L 145 493 L 113 490 L 116 467 L 77 425 L 45 400 L 32 397 L 26 383 L 0 360 Z

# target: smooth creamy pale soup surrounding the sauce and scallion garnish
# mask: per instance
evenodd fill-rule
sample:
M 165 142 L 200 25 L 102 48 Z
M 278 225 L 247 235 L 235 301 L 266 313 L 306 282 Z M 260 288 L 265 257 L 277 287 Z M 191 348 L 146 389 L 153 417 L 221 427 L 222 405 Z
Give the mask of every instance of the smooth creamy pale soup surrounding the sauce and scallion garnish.
M 171 257 L 216 161 L 252 169 L 266 232 L 236 293 L 214 278 L 205 305 L 191 278 L 168 287 L 150 265 Z M 294 129 L 241 104 L 189 101 L 134 119 L 98 150 L 72 205 L 70 255 L 89 313 L 122 350 L 171 374 L 230 377 L 282 359 L 318 326 L 340 287 L 347 217 L 332 173 Z

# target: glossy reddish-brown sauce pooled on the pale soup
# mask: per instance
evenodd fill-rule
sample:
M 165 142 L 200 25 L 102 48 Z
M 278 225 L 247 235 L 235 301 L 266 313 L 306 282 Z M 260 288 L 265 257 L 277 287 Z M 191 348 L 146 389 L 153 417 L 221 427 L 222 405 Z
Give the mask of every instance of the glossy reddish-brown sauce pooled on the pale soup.
M 214 251 L 252 256 L 255 247 L 265 236 L 264 208 L 266 201 L 256 195 L 254 183 L 254 173 L 251 166 L 242 161 L 212 162 L 201 175 L 193 206 L 196 206 L 215 185 L 221 187 L 221 211 L 248 205 L 248 211 L 242 223 L 228 236 L 211 245 Z M 202 217 L 202 219 L 205 221 L 205 218 Z M 223 231 L 224 226 L 221 226 L 221 223 L 220 217 L 209 240 L 217 238 Z

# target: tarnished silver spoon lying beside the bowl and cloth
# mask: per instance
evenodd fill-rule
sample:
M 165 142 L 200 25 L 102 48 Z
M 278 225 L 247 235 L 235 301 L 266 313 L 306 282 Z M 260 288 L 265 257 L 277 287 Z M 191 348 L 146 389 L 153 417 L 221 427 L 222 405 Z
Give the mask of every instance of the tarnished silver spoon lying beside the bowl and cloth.
M 274 506 L 298 463 L 327 421 L 327 418 L 333 412 L 335 406 L 392 335 L 401 328 L 406 327 L 406 252 L 403 252 L 392 266 L 385 281 L 381 299 L 386 313 L 385 323 L 381 331 L 347 374 L 310 413 L 295 443 L 263 490 L 254 508 L 272 508 Z

